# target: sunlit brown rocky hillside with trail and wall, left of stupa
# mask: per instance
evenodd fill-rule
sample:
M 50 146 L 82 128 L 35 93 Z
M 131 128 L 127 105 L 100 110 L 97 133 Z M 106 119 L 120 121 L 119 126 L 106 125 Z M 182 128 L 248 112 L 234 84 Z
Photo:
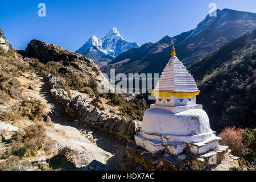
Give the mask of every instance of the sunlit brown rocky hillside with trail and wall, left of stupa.
M 0 171 L 131 168 L 118 161 L 126 147 L 110 134 L 134 136 L 143 100 L 98 93 L 113 88 L 82 55 L 39 40 L 17 51 L 1 29 L 0 40 Z

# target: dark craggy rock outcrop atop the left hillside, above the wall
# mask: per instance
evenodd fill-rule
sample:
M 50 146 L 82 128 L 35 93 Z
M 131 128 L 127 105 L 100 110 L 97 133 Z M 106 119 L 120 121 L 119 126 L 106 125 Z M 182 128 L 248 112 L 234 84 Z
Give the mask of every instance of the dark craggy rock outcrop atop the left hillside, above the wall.
M 19 51 L 19 53 L 25 57 L 38 59 L 44 64 L 53 61 L 60 67 L 58 72 L 66 77 L 76 77 L 86 84 L 95 80 L 100 85 L 99 88 L 114 92 L 113 86 L 102 75 L 96 63 L 79 53 L 69 52 L 59 46 L 40 40 L 31 40 L 26 51 Z

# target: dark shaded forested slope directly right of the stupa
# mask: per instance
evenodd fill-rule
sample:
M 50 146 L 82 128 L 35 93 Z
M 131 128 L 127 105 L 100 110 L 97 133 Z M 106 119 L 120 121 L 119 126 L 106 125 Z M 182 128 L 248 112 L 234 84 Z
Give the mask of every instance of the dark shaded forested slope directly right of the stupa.
M 256 29 L 224 44 L 188 67 L 216 131 L 225 126 L 256 127 Z

